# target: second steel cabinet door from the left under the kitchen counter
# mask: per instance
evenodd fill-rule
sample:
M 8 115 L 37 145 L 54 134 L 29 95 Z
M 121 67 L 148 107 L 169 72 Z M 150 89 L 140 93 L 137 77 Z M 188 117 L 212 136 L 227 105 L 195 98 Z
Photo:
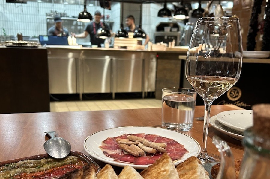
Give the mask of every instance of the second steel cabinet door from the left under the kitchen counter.
M 83 60 L 83 93 L 111 93 L 111 59 Z

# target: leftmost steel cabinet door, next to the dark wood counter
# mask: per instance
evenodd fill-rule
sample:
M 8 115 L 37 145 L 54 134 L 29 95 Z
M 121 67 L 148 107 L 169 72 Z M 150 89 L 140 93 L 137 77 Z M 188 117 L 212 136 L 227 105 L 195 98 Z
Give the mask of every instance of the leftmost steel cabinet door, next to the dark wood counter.
M 50 94 L 77 93 L 76 58 L 48 57 Z

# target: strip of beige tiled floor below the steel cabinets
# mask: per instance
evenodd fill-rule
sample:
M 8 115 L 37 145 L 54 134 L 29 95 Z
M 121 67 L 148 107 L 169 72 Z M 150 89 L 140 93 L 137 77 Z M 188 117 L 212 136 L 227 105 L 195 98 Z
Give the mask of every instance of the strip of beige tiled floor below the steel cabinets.
M 128 99 L 128 100 L 87 100 L 87 101 L 53 101 L 51 112 L 64 111 L 97 111 L 114 109 L 158 108 L 162 100 Z

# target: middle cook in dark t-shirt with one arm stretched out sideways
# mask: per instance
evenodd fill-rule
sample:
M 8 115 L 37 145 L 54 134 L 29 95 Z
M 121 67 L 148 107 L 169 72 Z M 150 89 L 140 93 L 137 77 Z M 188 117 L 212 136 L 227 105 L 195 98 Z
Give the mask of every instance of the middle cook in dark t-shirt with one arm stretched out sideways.
M 91 45 L 98 45 L 98 47 L 101 47 L 101 44 L 104 43 L 105 39 L 101 39 L 101 38 L 96 37 L 98 29 L 103 27 L 103 23 L 100 21 L 100 19 L 101 19 L 101 12 L 100 11 L 97 10 L 95 12 L 94 19 L 95 19 L 95 21 L 89 22 L 86 25 L 83 33 L 75 34 L 75 33 L 71 32 L 70 34 L 72 36 L 78 37 L 78 38 L 85 38 L 89 34 Z M 106 24 L 105 24 L 105 28 L 108 30 L 111 30 L 110 27 Z

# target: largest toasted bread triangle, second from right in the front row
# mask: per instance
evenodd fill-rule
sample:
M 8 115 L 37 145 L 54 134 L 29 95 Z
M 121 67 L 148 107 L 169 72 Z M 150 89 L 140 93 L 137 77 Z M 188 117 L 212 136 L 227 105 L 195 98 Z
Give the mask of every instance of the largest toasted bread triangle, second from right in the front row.
M 173 160 L 167 153 L 140 174 L 145 179 L 179 179 Z

